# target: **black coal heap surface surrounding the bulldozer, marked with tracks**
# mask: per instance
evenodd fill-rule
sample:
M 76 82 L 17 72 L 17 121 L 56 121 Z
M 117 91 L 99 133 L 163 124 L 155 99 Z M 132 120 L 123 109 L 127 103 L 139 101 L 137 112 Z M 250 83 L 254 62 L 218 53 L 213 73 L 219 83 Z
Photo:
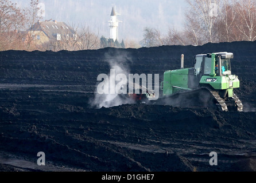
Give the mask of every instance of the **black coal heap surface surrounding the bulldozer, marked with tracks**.
M 1 171 L 255 171 L 256 42 L 0 52 Z M 159 74 L 196 54 L 234 53 L 244 112 L 130 102 L 95 108 L 110 69 Z M 96 100 L 98 99 L 98 100 Z M 44 152 L 46 165 L 38 166 Z M 210 153 L 218 165 L 210 165 Z

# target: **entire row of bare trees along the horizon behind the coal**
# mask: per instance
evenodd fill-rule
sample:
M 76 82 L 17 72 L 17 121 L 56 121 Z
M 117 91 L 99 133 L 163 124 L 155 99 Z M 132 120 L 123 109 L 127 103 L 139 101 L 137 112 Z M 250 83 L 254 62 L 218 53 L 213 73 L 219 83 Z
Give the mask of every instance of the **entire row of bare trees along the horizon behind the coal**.
M 22 9 L 10 0 L 0 0 L 0 51 L 2 50 L 87 50 L 103 47 L 151 47 L 161 45 L 203 45 L 208 42 L 256 40 L 256 0 L 187 0 L 183 29 L 170 26 L 165 35 L 154 27 L 145 27 L 141 41 L 121 43 L 99 36 L 86 25 L 71 25 L 75 37 L 51 39 L 38 45 L 36 35 L 28 31 L 41 21 L 38 0 L 30 0 Z

